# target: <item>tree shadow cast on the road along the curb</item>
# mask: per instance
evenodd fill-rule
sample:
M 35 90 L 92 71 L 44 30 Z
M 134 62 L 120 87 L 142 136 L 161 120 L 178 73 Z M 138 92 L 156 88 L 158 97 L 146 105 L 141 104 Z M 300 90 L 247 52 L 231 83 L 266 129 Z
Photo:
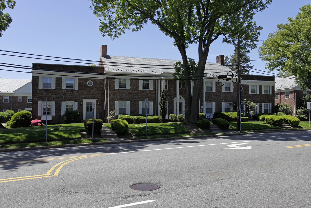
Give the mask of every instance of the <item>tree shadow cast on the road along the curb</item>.
M 47 161 L 42 161 L 40 159 L 47 159 L 49 157 L 64 157 L 64 156 L 81 156 L 83 154 L 101 154 L 101 153 L 119 153 L 126 151 L 139 151 L 144 150 L 152 145 L 170 144 L 170 145 L 184 145 L 184 144 L 198 144 L 201 142 L 207 142 L 207 140 L 215 139 L 227 139 L 232 141 L 241 140 L 275 140 L 275 141 L 311 141 L 311 136 L 308 132 L 286 132 L 286 134 L 280 133 L 261 133 L 261 134 L 246 134 L 246 135 L 232 135 L 226 137 L 203 137 L 203 138 L 193 138 L 193 139 L 179 139 L 179 140 L 163 140 L 163 141 L 152 141 L 152 142 L 132 142 L 124 144 L 106 144 L 98 146 L 83 146 L 83 147 L 65 147 L 58 149 L 43 149 L 43 150 L 31 150 L 31 151 L 15 151 L 15 152 L 1 152 L 0 153 L 0 168 L 2 170 L 16 171 L 21 166 L 32 166 L 47 163 Z M 211 142 L 215 143 L 215 142 Z M 222 143 L 222 142 L 220 142 Z M 174 146 L 173 146 L 174 147 Z M 182 148 L 181 148 L 182 150 Z M 66 159 L 55 160 L 55 164 Z M 27 161 L 27 162 L 21 162 Z

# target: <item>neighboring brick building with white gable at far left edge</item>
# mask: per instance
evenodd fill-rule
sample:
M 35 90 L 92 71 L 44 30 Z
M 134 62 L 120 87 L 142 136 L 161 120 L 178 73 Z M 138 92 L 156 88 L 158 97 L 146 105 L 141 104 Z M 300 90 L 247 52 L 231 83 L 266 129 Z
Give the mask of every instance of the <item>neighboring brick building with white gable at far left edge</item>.
M 0 79 L 0 112 L 32 110 L 31 79 Z

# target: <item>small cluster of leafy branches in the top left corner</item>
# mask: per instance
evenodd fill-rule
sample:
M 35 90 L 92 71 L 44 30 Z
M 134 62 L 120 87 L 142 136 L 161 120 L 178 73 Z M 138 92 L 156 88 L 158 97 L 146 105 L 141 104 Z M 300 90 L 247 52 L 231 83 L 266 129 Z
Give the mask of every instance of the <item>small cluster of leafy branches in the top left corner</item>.
M 0 37 L 2 37 L 3 31 L 7 30 L 10 23 L 12 22 L 12 18 L 8 13 L 3 12 L 7 7 L 13 9 L 15 7 L 14 0 L 0 0 Z

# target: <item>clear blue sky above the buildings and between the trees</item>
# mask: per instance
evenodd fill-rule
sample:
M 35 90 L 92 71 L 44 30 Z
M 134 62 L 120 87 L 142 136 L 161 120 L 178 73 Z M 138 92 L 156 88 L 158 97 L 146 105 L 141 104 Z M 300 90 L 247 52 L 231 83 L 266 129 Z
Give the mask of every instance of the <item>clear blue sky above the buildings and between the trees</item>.
M 260 40 L 276 30 L 277 24 L 295 17 L 307 0 L 273 0 L 271 5 L 255 15 L 254 20 L 262 26 Z M 165 58 L 181 60 L 171 38 L 161 33 L 155 25 L 147 24 L 140 32 L 127 31 L 120 38 L 111 40 L 99 32 L 99 21 L 87 0 L 27 0 L 16 2 L 14 10 L 6 10 L 13 22 L 0 38 L 0 49 L 40 54 L 45 56 L 99 60 L 100 46 L 107 45 L 107 54 L 113 56 Z M 258 42 L 258 47 L 262 41 Z M 212 43 L 207 62 L 216 62 L 218 55 L 232 55 L 234 47 L 222 43 L 221 38 Z M 4 53 L 4 52 L 1 52 Z M 7 53 L 12 54 L 12 53 Z M 188 49 L 188 56 L 197 61 L 197 46 Z M 258 51 L 249 54 L 251 60 L 259 60 Z M 32 66 L 32 63 L 70 64 L 59 61 L 38 60 L 0 55 L 0 62 Z M 251 61 L 254 69 L 264 70 L 263 61 Z M 79 64 L 74 64 L 79 65 Z M 30 73 L 10 72 L 19 70 L 0 66 L 0 76 L 8 79 L 31 79 Z M 251 74 L 262 75 L 251 72 Z

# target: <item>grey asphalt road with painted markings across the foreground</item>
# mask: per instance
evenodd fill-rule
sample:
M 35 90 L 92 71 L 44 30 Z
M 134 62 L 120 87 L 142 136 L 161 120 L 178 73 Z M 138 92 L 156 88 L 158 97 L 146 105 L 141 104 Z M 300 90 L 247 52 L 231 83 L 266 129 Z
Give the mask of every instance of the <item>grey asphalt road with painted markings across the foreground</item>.
M 310 150 L 296 131 L 2 152 L 0 207 L 307 208 Z

